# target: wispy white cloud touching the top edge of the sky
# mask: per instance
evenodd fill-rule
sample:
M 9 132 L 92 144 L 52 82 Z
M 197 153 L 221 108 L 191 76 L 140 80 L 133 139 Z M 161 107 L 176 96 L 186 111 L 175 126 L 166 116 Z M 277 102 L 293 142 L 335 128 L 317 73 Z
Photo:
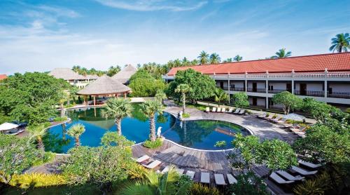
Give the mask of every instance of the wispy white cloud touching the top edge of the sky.
M 95 0 L 104 6 L 132 11 L 192 11 L 201 8 L 207 1 L 196 0 Z

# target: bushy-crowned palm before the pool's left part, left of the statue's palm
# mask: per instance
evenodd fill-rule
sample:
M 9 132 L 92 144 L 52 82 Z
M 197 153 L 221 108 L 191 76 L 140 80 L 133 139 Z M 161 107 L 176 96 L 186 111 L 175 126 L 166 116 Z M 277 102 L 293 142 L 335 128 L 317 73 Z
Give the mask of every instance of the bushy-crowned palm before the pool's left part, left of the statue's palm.
M 102 117 L 116 119 L 118 135 L 122 135 L 122 119 L 131 116 L 134 108 L 130 100 L 124 98 L 111 98 L 107 100 L 106 107 L 102 110 Z

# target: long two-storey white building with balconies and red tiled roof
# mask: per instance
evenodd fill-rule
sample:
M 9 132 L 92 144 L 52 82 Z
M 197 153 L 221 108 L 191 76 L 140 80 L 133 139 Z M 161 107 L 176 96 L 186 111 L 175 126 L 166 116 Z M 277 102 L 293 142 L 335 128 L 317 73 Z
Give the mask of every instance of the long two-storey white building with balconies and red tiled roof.
M 285 90 L 301 98 L 350 105 L 350 53 L 175 67 L 163 78 L 172 81 L 177 71 L 189 68 L 211 76 L 230 96 L 246 92 L 252 107 L 278 108 L 272 96 Z

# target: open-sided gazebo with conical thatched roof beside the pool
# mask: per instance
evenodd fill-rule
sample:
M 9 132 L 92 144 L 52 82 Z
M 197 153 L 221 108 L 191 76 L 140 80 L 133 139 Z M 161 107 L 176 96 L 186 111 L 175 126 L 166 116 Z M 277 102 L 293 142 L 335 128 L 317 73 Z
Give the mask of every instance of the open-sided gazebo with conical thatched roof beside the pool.
M 96 97 L 118 97 L 119 95 L 127 97 L 127 93 L 131 93 L 131 88 L 106 75 L 99 77 L 99 79 L 78 91 L 79 95 L 84 95 L 84 105 L 87 105 L 87 95 L 94 97 L 94 105 L 96 105 Z

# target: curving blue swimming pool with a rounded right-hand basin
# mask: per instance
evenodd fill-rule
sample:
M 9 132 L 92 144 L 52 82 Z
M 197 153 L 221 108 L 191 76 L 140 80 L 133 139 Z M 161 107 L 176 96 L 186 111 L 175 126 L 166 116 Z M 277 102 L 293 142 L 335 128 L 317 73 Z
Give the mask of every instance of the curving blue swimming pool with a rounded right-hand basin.
M 122 134 L 128 140 L 136 143 L 144 142 L 149 135 L 148 118 L 140 112 L 139 105 L 135 104 L 131 117 L 122 121 Z M 76 123 L 83 123 L 85 133 L 80 136 L 80 144 L 83 146 L 97 147 L 100 145 L 101 137 L 107 130 L 116 131 L 114 119 L 105 119 L 101 116 L 103 108 L 85 108 L 69 110 L 67 116 L 71 121 L 66 124 L 48 129 L 43 137 L 45 150 L 66 153 L 74 147 L 74 140 L 66 131 Z M 156 128 L 162 127 L 162 135 L 185 147 L 195 149 L 228 149 L 230 142 L 235 138 L 235 133 L 248 134 L 241 126 L 223 121 L 179 121 L 172 114 L 164 112 L 156 116 Z M 214 147 L 217 141 L 226 141 L 227 146 Z

